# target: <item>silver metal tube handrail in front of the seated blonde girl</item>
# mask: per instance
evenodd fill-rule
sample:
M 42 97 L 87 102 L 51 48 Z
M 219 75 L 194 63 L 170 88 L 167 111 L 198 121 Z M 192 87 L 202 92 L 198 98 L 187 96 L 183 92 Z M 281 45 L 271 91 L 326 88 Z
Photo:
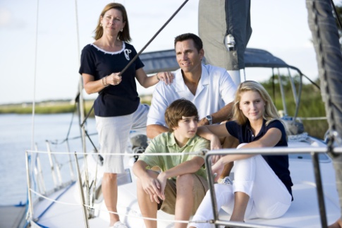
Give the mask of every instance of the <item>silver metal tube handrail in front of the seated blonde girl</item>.
M 317 198 L 319 203 L 319 215 L 321 216 L 322 227 L 327 227 L 326 212 L 324 205 L 322 179 L 319 169 L 318 153 L 326 153 L 328 148 L 300 148 L 300 153 L 310 153 L 312 155 L 312 162 L 314 166 L 314 176 L 317 185 Z M 342 153 L 342 148 L 334 148 L 334 152 Z M 286 154 L 297 154 L 298 148 L 286 148 L 286 147 L 276 147 L 276 148 L 251 148 L 251 149 L 221 149 L 221 150 L 211 150 L 206 152 L 204 160 L 207 167 L 207 176 L 209 181 L 210 196 L 212 198 L 212 210 L 214 215 L 215 227 L 219 225 L 228 225 L 233 227 L 255 227 L 255 224 L 241 224 L 239 222 L 227 222 L 225 220 L 219 220 L 219 210 L 217 210 L 216 196 L 214 191 L 214 177 L 212 176 L 212 164 L 210 157 L 212 155 L 235 155 L 235 154 L 245 154 L 245 155 L 286 155 Z

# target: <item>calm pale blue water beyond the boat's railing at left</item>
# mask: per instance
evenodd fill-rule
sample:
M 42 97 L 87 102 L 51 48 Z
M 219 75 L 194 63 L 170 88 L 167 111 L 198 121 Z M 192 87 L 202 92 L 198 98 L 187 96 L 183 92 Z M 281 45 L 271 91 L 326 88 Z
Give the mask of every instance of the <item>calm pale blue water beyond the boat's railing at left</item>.
M 72 114 L 37 114 L 35 115 L 35 143 L 40 151 L 47 150 L 46 140 L 61 142 L 66 138 L 72 121 Z M 88 133 L 96 133 L 94 119 L 87 121 Z M 80 136 L 77 116 L 73 117 L 73 125 L 69 138 Z M 97 135 L 91 136 L 97 145 Z M 57 141 L 56 141 L 57 140 Z M 31 114 L 0 114 L 0 205 L 17 205 L 27 201 L 27 180 L 25 167 L 25 151 L 31 150 L 32 115 Z M 71 152 L 82 152 L 80 139 L 72 140 Z M 90 140 L 87 148 L 91 150 Z M 51 145 L 53 152 L 66 152 L 66 144 Z M 37 153 L 32 153 L 32 157 Z M 70 179 L 70 169 L 66 162 L 68 155 L 55 155 L 61 164 L 63 181 Z M 47 190 L 53 188 L 54 183 L 49 172 L 49 160 L 46 154 L 39 154 Z M 72 154 L 72 159 L 74 155 Z M 73 164 L 75 161 L 73 159 Z M 75 169 L 74 169 L 75 171 Z M 32 182 L 32 188 L 35 188 Z

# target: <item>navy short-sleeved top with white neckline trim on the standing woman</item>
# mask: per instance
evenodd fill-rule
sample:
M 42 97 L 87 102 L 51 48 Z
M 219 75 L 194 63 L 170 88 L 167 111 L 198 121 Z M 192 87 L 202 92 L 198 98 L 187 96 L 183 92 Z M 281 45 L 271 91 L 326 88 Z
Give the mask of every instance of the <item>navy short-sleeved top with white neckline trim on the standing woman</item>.
M 136 54 L 135 48 L 126 42 L 123 42 L 120 52 L 105 52 L 93 44 L 87 44 L 82 50 L 79 73 L 90 74 L 94 76 L 94 80 L 99 80 L 111 73 L 121 72 Z M 120 84 L 109 85 L 99 92 L 94 102 L 96 116 L 123 116 L 138 109 L 140 98 L 135 83 L 135 71 L 143 66 L 138 57 L 122 74 Z

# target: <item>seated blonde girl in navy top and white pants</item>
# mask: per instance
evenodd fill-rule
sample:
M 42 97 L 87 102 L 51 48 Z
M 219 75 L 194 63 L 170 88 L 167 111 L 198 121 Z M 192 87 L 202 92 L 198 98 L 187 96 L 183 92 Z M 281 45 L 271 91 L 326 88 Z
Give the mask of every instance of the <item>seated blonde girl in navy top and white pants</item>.
M 211 140 L 212 149 L 221 148 L 219 137 L 238 138 L 240 148 L 287 146 L 286 131 L 271 97 L 259 83 L 247 80 L 240 83 L 234 101 L 235 121 L 225 125 L 201 126 L 197 135 Z M 239 148 L 238 147 L 238 148 Z M 224 164 L 234 162 L 234 181 L 215 184 L 216 202 L 231 215 L 231 221 L 252 218 L 281 217 L 290 207 L 292 198 L 288 155 L 225 155 L 212 166 L 219 174 Z M 197 209 L 193 221 L 212 220 L 212 202 L 209 191 Z M 191 223 L 193 227 L 209 224 Z

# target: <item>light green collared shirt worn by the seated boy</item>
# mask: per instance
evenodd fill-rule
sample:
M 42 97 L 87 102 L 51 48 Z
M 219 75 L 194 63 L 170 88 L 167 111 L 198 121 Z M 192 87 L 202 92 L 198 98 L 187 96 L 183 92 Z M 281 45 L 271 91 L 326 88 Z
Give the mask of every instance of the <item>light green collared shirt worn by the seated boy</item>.
M 186 143 L 183 148 L 180 148 L 176 143 L 173 133 L 165 132 L 152 139 L 145 152 L 139 157 L 139 160 L 146 162 L 149 167 L 157 166 L 161 169 L 162 172 L 165 172 L 166 170 L 171 169 L 178 164 L 191 160 L 193 159 L 193 157 L 197 156 L 184 153 L 200 152 L 203 149 L 210 149 L 209 140 L 195 135 L 193 138 L 190 138 L 188 140 L 188 143 Z M 180 153 L 180 155 L 145 155 L 161 152 L 178 152 Z M 203 176 L 205 179 L 207 179 L 207 172 L 205 171 L 204 166 L 202 166 L 201 169 L 195 172 L 195 174 Z M 176 176 L 173 176 L 173 179 L 176 179 Z

